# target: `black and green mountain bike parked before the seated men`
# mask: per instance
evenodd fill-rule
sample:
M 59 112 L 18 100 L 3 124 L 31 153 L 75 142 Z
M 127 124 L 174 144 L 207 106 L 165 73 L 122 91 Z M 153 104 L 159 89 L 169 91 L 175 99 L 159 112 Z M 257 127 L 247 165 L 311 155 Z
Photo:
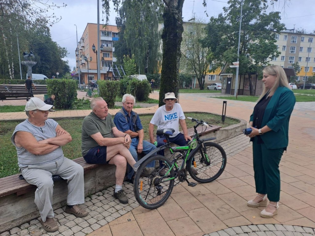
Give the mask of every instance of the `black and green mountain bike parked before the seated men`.
M 214 181 L 224 171 L 226 166 L 224 149 L 217 143 L 208 142 L 215 138 L 200 139 L 196 129 L 200 125 L 209 127 L 209 124 L 190 117 L 187 119 L 196 122 L 196 125 L 193 138 L 186 146 L 171 147 L 169 136 L 175 132 L 174 129 L 157 130 L 157 136 L 164 136 L 165 144 L 145 155 L 134 165 L 139 166 L 135 172 L 134 194 L 144 208 L 155 209 L 163 205 L 173 190 L 175 179 L 179 180 L 176 184 L 186 181 L 188 186 L 196 186 L 196 183 L 188 181 L 187 169 L 190 176 L 199 183 Z M 169 149 L 170 159 L 156 155 L 158 151 L 164 149 Z M 152 161 L 155 161 L 155 167 L 147 168 L 146 165 Z

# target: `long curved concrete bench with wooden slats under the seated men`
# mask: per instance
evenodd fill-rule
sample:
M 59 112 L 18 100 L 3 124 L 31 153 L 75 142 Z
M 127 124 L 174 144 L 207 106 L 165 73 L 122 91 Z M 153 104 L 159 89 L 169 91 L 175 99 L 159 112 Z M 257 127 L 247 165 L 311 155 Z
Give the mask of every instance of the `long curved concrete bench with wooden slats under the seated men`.
M 203 128 L 205 127 L 203 126 Z M 215 136 L 213 133 L 220 130 L 220 128 L 221 126 L 208 127 L 203 132 L 203 138 Z M 200 133 L 202 127 L 198 127 L 197 130 Z M 193 128 L 188 129 L 189 135 L 192 136 L 193 133 Z M 116 167 L 114 165 L 88 164 L 83 157 L 73 161 L 83 166 L 85 196 L 97 193 L 115 184 Z M 34 203 L 35 190 L 36 186 L 27 183 L 26 180 L 19 179 L 19 174 L 0 178 L 0 233 L 39 217 L 39 212 Z M 67 193 L 66 180 L 54 181 L 54 209 L 66 205 Z

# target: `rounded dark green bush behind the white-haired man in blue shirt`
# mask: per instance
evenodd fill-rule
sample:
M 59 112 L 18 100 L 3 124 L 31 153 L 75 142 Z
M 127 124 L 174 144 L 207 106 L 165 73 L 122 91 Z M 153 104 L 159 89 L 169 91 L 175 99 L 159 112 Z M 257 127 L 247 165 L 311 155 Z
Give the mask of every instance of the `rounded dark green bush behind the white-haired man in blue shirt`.
M 134 95 L 139 102 L 148 100 L 150 92 L 151 85 L 146 80 L 132 79 L 127 86 L 127 93 Z

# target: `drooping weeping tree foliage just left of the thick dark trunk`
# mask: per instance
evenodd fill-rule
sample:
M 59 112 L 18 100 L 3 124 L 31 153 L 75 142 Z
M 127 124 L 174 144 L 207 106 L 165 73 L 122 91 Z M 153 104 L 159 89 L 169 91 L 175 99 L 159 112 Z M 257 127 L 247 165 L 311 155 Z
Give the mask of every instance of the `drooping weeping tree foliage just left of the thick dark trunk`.
M 120 40 L 115 44 L 115 55 L 120 62 L 124 55 L 134 55 L 140 74 L 158 71 L 158 24 L 162 9 L 160 0 L 125 0 L 119 8 L 116 24 L 120 28 Z

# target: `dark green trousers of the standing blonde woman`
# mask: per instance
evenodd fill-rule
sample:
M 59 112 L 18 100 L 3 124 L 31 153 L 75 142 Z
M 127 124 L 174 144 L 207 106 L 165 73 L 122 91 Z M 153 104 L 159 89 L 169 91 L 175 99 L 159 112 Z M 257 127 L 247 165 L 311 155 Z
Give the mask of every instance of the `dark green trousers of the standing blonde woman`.
M 280 199 L 279 163 L 284 149 L 267 149 L 264 143 L 253 140 L 253 164 L 256 192 L 267 194 L 269 201 Z

